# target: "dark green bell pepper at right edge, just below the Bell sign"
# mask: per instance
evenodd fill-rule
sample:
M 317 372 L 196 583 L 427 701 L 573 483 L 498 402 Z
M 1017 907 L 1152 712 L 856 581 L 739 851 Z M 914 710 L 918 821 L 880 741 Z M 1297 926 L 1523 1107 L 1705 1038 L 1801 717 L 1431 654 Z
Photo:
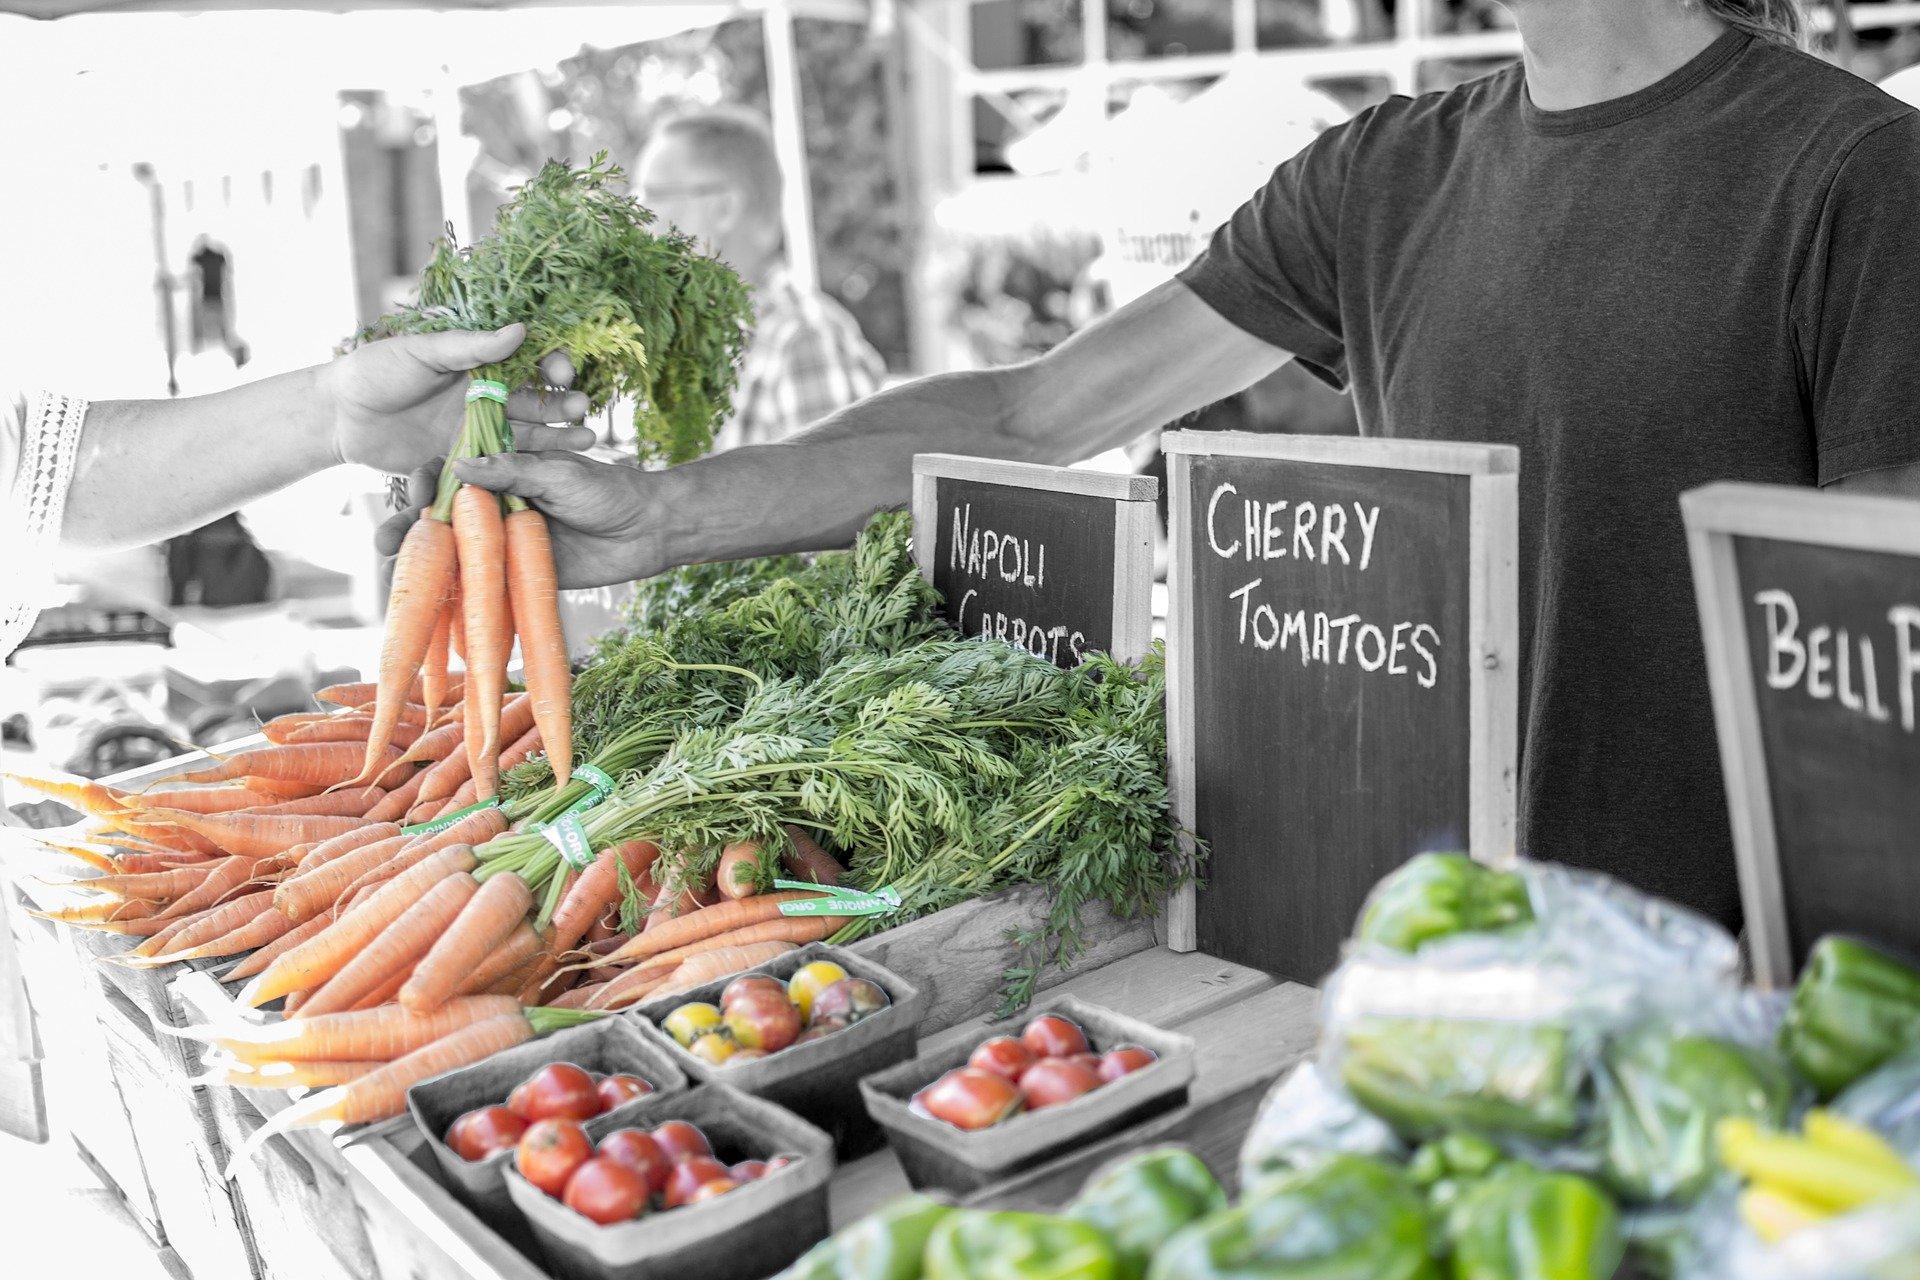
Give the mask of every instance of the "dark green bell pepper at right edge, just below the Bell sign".
M 1920 971 L 1855 938 L 1814 942 L 1780 1027 L 1780 1048 L 1820 1098 L 1914 1044 Z

